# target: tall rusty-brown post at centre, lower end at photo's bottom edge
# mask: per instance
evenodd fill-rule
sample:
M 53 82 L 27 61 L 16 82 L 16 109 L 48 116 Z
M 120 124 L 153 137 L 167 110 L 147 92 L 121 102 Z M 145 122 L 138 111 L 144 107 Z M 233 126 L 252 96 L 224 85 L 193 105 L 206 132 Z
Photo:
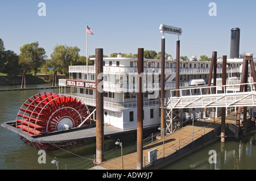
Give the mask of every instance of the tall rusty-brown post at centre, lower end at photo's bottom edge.
M 137 90 L 137 170 L 143 167 L 143 56 L 144 49 L 138 48 L 138 90 Z

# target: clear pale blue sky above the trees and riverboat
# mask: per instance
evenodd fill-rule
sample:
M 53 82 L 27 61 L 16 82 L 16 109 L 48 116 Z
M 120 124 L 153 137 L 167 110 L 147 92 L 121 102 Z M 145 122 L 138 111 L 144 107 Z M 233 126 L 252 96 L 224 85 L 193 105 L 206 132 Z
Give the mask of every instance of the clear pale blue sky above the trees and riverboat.
M 46 3 L 46 16 L 39 16 L 39 2 Z M 210 2 L 216 3 L 217 16 L 209 16 Z M 88 54 L 103 48 L 113 52 L 137 53 L 161 50 L 160 24 L 180 27 L 180 56 L 230 54 L 230 30 L 241 30 L 240 53 L 256 57 L 255 0 L 196 1 L 49 1 L 0 0 L 0 38 L 6 50 L 19 54 L 26 43 L 39 42 L 50 58 L 56 45 L 77 46 L 86 56 L 85 23 L 94 35 L 88 34 Z M 176 57 L 176 35 L 166 34 L 166 52 Z

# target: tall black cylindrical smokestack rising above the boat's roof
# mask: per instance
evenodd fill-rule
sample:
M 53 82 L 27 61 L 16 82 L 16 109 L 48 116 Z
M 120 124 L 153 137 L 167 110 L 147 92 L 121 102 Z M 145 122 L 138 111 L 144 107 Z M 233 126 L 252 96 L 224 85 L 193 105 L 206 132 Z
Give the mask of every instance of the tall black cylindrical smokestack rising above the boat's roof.
M 230 58 L 239 58 L 240 29 L 232 28 L 230 39 Z

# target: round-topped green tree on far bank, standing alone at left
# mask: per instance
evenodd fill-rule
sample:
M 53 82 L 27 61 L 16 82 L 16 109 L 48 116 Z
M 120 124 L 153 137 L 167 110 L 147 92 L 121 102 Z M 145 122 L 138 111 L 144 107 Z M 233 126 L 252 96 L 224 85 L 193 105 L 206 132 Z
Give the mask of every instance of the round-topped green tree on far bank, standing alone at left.
M 39 47 L 38 41 L 31 44 L 24 44 L 20 47 L 20 58 L 22 62 L 29 63 L 34 74 L 38 73 L 39 68 L 44 64 L 46 58 L 46 51 Z

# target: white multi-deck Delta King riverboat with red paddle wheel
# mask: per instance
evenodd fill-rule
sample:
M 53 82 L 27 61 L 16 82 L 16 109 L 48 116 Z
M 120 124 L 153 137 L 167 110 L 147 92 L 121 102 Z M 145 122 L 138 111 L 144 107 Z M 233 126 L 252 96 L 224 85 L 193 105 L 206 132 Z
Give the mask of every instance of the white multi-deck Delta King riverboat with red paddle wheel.
M 95 62 L 95 58 L 91 58 Z M 105 127 L 118 130 L 112 134 L 124 134 L 136 131 L 137 128 L 137 90 L 138 76 L 143 77 L 143 127 L 148 133 L 157 132 L 160 125 L 160 85 L 161 60 L 144 58 L 143 75 L 138 75 L 137 58 L 104 57 L 103 94 L 104 94 L 104 124 Z M 227 60 L 227 84 L 240 83 L 241 58 Z M 210 61 L 199 61 L 196 56 L 190 60 L 180 60 L 179 65 L 171 57 L 165 60 L 165 102 L 176 87 L 176 66 L 179 66 L 180 89 L 204 87 L 208 84 Z M 69 78 L 59 79 L 59 93 L 42 92 L 28 98 L 18 111 L 15 122 L 2 124 L 19 134 L 23 141 L 36 148 L 48 148 L 50 144 L 66 145 L 70 142 L 86 139 L 85 134 L 79 138 L 67 137 L 43 140 L 43 137 L 54 137 L 60 133 L 84 130 L 88 132 L 94 127 L 96 120 L 96 71 L 95 65 L 69 66 Z M 222 60 L 217 60 L 217 85 L 221 85 Z M 207 89 L 185 94 L 206 94 Z M 202 90 L 202 89 L 201 89 Z M 201 113 L 201 108 L 186 108 L 181 110 L 180 119 L 168 120 L 174 123 L 170 132 L 187 124 L 186 114 Z M 210 114 L 209 114 L 210 115 Z M 208 115 L 204 115 L 208 116 Z M 181 124 L 182 123 L 182 124 Z M 152 131 L 152 129 L 154 131 Z M 128 131 L 128 132 L 127 132 Z M 96 134 L 95 134 L 96 136 Z M 55 136 L 56 137 L 56 136 Z M 63 136 L 65 137 L 65 136 Z M 88 136 L 92 138 L 92 134 Z

